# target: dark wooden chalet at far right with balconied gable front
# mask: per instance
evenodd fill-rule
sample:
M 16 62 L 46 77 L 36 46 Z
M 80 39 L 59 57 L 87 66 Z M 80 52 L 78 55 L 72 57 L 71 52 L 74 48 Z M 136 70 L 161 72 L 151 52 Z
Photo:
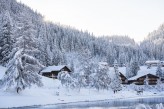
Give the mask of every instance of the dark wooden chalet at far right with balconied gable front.
M 157 80 L 159 79 L 158 76 L 154 75 L 154 74 L 145 74 L 145 75 L 141 75 L 141 76 L 134 76 L 130 79 L 128 79 L 128 82 L 134 83 L 136 85 L 144 85 L 146 84 L 145 82 L 147 81 L 149 85 L 156 85 L 157 84 Z

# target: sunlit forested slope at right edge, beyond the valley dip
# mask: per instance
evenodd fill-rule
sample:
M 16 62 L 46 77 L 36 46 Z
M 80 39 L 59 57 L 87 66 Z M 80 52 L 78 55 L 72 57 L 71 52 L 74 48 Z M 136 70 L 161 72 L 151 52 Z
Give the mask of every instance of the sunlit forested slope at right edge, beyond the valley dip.
M 164 60 L 164 24 L 149 33 L 141 48 L 148 59 Z

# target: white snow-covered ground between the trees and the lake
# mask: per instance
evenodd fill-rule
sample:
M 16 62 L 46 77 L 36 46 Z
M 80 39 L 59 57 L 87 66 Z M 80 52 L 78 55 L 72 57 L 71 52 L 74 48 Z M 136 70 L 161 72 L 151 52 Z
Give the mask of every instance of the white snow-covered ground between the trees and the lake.
M 145 97 L 164 97 L 164 92 L 156 90 L 144 91 L 143 94 L 137 95 L 129 87 L 123 87 L 122 91 L 114 94 L 111 90 L 81 89 L 68 90 L 63 88 L 58 80 L 52 80 L 42 77 L 44 86 L 41 88 L 33 86 L 30 89 L 17 94 L 13 91 L 0 90 L 0 108 L 21 107 L 31 105 L 46 105 L 57 103 L 70 103 L 80 101 L 96 101 L 107 99 L 135 99 Z M 59 95 L 57 95 L 59 92 Z

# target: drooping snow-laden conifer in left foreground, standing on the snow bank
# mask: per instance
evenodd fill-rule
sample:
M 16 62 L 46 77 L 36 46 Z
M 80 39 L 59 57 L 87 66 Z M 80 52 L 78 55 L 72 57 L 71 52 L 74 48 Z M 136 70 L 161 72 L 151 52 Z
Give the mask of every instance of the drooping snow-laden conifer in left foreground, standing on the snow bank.
M 15 89 L 17 93 L 32 84 L 42 86 L 41 77 L 38 75 L 40 67 L 35 58 L 24 54 L 23 49 L 18 50 L 8 64 L 3 86 L 5 89 Z

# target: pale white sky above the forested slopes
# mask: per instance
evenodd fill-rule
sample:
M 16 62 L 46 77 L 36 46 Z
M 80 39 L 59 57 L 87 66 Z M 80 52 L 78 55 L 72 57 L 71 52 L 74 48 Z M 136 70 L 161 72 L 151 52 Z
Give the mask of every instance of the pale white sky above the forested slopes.
M 164 23 L 164 0 L 17 0 L 46 20 L 96 36 L 128 35 L 141 41 Z

